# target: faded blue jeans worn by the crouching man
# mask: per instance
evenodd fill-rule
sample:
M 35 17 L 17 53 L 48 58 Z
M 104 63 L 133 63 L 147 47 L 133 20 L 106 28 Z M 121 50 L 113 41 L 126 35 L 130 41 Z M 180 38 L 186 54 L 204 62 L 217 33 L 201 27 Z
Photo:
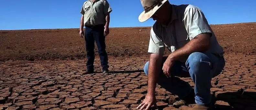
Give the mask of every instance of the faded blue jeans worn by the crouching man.
M 166 58 L 163 58 L 162 66 Z M 148 74 L 148 64 L 149 61 L 144 66 L 146 75 Z M 211 101 L 211 78 L 218 76 L 224 66 L 225 60 L 222 56 L 194 52 L 189 55 L 186 62 L 175 61 L 171 69 L 171 78 L 167 78 L 162 71 L 159 75 L 158 84 L 182 99 L 193 88 L 177 77 L 191 77 L 195 83 L 195 102 L 200 105 L 209 104 Z

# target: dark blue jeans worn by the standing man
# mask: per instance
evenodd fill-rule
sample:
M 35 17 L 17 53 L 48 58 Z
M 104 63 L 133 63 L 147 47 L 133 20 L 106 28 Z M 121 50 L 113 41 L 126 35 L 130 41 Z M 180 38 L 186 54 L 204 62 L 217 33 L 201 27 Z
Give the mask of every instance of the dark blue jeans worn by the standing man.
M 87 70 L 91 71 L 94 69 L 94 41 L 96 41 L 102 70 L 108 70 L 108 55 L 106 52 L 105 36 L 104 36 L 104 25 L 86 26 L 85 27 L 85 47 L 87 52 Z

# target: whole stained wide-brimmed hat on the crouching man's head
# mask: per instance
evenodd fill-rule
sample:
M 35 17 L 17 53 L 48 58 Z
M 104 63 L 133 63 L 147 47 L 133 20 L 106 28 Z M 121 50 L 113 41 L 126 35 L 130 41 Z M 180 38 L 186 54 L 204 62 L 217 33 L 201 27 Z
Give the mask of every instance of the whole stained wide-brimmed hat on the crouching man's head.
M 141 0 L 144 11 L 139 15 L 139 21 L 148 20 L 168 0 Z

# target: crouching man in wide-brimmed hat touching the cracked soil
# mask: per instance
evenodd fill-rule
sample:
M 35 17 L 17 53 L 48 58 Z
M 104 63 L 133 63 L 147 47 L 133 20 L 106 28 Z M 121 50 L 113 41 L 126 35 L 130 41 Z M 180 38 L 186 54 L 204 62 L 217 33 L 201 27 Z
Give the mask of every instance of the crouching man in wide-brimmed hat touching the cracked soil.
M 216 40 L 203 12 L 193 5 L 171 5 L 168 0 L 141 0 L 144 12 L 139 21 L 156 20 L 150 31 L 150 60 L 144 72 L 148 76 L 147 95 L 137 107 L 146 110 L 155 105 L 156 83 L 179 96 L 174 105 L 186 105 L 187 97 L 195 93 L 192 110 L 211 109 L 211 78 L 224 68 L 223 49 Z M 165 48 L 171 51 L 163 57 Z M 191 77 L 195 90 L 179 86 L 177 77 Z M 174 84 L 173 84 L 174 83 Z

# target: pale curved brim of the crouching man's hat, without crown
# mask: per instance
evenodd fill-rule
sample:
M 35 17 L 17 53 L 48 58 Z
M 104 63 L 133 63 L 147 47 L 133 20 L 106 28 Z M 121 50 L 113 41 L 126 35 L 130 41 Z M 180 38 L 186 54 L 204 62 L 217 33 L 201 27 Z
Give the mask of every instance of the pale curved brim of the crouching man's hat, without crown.
M 139 15 L 139 21 L 140 22 L 144 22 L 147 21 L 153 14 L 155 14 L 155 12 L 168 0 L 163 0 L 162 4 L 160 6 L 155 6 L 153 9 L 151 9 L 148 12 L 143 11 L 140 15 Z

